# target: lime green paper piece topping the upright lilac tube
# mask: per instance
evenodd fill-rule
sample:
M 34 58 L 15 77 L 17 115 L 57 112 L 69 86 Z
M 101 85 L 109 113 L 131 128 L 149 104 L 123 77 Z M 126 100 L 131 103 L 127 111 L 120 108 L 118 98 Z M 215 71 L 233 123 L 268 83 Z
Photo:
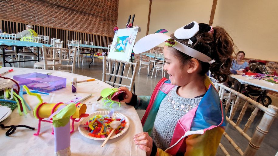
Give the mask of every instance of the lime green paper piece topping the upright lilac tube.
M 76 111 L 75 104 L 71 103 L 61 109 L 53 118 L 53 127 L 63 127 L 70 121 L 70 116 Z

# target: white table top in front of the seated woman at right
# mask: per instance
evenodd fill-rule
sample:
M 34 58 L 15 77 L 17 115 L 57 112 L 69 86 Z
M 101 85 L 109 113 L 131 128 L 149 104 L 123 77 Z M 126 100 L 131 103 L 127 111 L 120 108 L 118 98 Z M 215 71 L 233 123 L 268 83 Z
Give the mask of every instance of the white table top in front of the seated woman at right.
M 244 85 L 253 85 L 262 88 L 262 90 L 272 90 L 278 92 L 278 85 L 259 79 L 247 79 L 242 75 L 230 75 L 232 78 L 237 79 L 241 84 Z

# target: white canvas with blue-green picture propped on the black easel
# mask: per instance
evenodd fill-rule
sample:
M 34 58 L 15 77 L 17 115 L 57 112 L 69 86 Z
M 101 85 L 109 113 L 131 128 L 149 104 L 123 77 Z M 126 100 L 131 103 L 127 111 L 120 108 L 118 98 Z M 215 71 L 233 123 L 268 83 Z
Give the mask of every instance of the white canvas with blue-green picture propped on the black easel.
M 108 58 L 129 61 L 138 28 L 118 29 L 114 35 Z

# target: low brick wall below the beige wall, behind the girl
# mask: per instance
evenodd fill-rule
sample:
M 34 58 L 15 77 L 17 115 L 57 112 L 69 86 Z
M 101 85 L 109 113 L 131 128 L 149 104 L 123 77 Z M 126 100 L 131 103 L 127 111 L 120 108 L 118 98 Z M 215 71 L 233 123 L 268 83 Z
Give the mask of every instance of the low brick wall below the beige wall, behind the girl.
M 151 50 L 156 50 L 157 52 L 161 52 L 163 51 L 162 47 L 154 47 Z M 146 51 L 146 53 L 149 53 L 149 51 Z M 140 62 L 140 54 L 135 54 L 135 61 L 139 61 Z M 255 59 L 255 58 L 244 58 L 245 61 L 249 61 L 249 60 L 260 60 L 260 59 Z M 149 57 L 147 57 L 146 55 L 142 55 L 142 60 L 144 61 L 149 61 Z M 275 61 L 267 61 L 266 65 L 272 69 L 272 71 L 276 71 L 278 73 L 278 62 Z M 278 97 L 278 92 L 276 91 L 269 91 L 268 92 L 269 95 L 273 95 L 273 96 L 277 96 Z

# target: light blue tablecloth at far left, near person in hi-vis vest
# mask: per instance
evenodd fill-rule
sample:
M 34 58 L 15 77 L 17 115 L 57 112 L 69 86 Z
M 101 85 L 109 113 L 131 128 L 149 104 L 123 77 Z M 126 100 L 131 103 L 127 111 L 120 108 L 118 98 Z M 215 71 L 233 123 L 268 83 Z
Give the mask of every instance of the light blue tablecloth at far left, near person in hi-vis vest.
M 52 45 L 47 45 L 47 44 L 43 44 L 43 43 L 7 40 L 7 39 L 0 39 L 0 45 L 19 46 L 19 47 L 39 47 L 39 48 L 42 48 L 42 45 L 44 45 L 46 47 L 52 47 Z

